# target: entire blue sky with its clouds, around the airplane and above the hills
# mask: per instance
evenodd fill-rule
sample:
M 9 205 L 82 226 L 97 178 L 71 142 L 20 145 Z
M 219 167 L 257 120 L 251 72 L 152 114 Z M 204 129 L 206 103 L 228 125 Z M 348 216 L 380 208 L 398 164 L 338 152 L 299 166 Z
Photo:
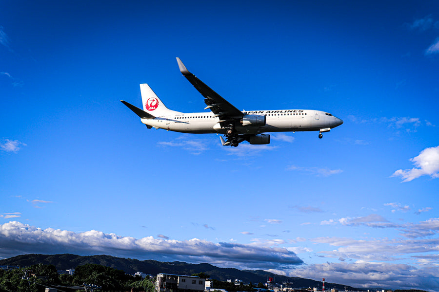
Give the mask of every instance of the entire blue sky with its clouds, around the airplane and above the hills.
M 1 1 L 0 257 L 209 262 L 439 291 L 437 1 Z M 344 124 L 270 145 L 147 129 L 203 98 Z M 330 288 L 330 287 L 329 287 Z

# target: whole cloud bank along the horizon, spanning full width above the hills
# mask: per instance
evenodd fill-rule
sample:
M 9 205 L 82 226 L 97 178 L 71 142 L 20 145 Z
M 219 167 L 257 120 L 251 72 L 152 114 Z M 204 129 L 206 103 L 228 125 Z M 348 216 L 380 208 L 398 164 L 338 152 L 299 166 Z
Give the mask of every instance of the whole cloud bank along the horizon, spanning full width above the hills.
M 389 204 L 393 205 L 393 203 Z M 322 222 L 321 224 L 328 224 Z M 316 278 L 319 274 L 331 282 L 354 287 L 405 287 L 431 291 L 439 289 L 438 259 L 439 239 L 431 238 L 439 233 L 439 218 L 419 223 L 391 223 L 382 216 L 340 218 L 330 224 L 340 226 L 390 228 L 399 230 L 402 238 L 354 239 L 348 237 L 297 238 L 296 243 L 310 241 L 328 246 L 327 251 L 315 252 L 321 257 L 339 258 L 339 263 L 304 264 L 296 255 L 313 253 L 312 249 L 281 247 L 287 242 L 280 239 L 253 239 L 251 244 L 233 242 L 213 243 L 193 238 L 173 240 L 158 235 L 136 239 L 105 234 L 97 230 L 75 233 L 60 229 L 41 229 L 18 221 L 0 225 L 1 257 L 19 254 L 78 255 L 106 254 L 134 257 L 140 260 L 185 261 L 210 263 L 219 267 L 238 269 L 263 269 L 292 277 Z M 253 235 L 250 232 L 242 232 Z M 405 237 L 406 239 L 404 239 Z M 398 264 L 404 257 L 420 265 Z M 374 271 L 371 275 L 371 271 Z M 372 276 L 372 279 L 371 279 Z M 410 282 L 403 279 L 410 276 Z M 426 281 L 429 279 L 429 281 Z M 427 284 L 426 284 L 427 283 Z

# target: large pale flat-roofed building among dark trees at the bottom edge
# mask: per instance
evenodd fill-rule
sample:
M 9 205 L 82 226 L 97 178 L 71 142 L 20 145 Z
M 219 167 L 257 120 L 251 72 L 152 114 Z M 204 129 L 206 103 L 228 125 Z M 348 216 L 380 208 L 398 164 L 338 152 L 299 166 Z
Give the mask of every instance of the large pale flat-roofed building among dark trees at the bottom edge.
M 156 292 L 203 292 L 205 279 L 196 276 L 158 274 Z

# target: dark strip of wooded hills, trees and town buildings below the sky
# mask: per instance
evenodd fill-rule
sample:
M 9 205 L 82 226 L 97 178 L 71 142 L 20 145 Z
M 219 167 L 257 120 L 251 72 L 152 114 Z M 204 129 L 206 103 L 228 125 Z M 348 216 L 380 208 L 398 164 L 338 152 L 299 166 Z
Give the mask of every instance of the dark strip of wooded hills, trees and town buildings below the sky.
M 71 267 L 66 269 L 66 267 Z M 144 273 L 147 272 L 147 273 Z M 262 270 L 114 256 L 22 255 L 0 260 L 0 292 L 403 292 Z M 406 290 L 417 292 L 421 290 Z

